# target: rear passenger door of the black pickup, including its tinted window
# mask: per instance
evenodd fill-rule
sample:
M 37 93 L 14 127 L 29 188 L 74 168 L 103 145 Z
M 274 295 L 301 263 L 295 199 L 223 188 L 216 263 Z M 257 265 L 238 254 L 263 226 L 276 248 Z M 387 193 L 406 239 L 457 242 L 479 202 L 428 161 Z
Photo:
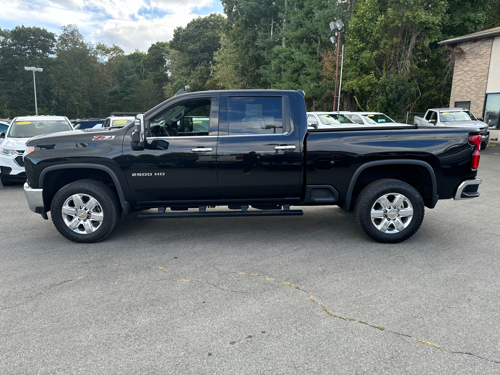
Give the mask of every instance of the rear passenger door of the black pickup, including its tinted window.
M 217 180 L 222 199 L 279 199 L 298 190 L 299 127 L 290 122 L 289 110 L 290 105 L 296 108 L 294 100 L 279 94 L 220 97 Z

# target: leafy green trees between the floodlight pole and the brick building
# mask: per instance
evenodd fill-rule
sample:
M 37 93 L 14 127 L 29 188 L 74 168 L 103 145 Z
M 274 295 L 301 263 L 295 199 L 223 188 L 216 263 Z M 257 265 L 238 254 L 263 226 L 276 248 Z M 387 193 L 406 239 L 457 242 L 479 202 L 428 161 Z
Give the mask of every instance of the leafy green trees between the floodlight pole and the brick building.
M 453 56 L 437 41 L 479 30 L 487 8 L 485 0 L 358 0 L 345 40 L 344 89 L 399 119 L 447 105 Z

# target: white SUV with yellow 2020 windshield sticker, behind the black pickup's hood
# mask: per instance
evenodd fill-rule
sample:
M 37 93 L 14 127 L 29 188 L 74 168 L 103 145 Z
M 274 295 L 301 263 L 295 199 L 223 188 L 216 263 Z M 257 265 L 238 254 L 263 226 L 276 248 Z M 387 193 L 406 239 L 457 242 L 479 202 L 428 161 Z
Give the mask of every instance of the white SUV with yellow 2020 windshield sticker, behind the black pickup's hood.
M 0 132 L 0 180 L 2 185 L 13 185 L 26 181 L 22 154 L 26 141 L 36 135 L 73 130 L 64 116 L 15 117 L 7 128 Z M 43 147 L 51 147 L 46 144 Z

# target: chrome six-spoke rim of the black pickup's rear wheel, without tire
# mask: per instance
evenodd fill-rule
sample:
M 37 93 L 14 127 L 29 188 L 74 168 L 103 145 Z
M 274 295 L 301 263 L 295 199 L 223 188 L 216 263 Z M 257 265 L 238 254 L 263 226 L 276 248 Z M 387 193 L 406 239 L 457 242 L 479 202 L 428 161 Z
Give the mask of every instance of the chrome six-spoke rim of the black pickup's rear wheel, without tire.
M 371 206 L 371 222 L 383 233 L 400 232 L 408 226 L 412 217 L 411 202 L 397 192 L 380 196 Z

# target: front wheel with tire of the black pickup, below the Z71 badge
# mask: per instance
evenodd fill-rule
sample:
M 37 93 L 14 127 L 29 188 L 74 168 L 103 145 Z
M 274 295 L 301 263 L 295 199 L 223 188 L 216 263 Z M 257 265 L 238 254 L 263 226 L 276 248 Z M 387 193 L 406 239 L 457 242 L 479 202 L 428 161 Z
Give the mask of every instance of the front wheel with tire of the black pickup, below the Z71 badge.
M 111 233 L 121 217 L 118 197 L 108 186 L 80 179 L 62 186 L 50 206 L 56 229 L 73 242 L 98 242 Z

